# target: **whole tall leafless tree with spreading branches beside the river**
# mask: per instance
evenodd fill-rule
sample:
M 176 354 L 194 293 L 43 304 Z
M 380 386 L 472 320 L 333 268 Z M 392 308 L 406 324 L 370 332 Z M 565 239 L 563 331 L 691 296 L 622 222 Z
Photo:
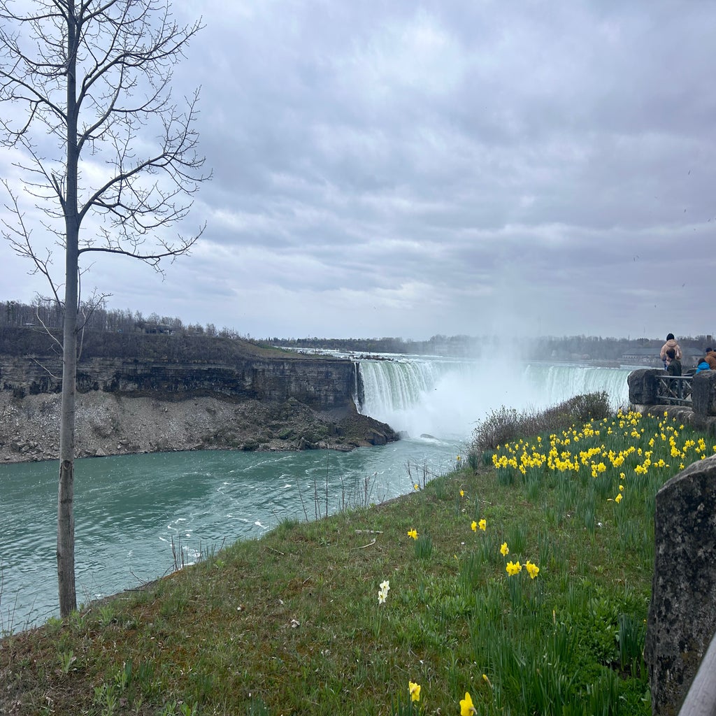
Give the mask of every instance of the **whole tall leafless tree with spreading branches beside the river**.
M 172 69 L 200 22 L 181 26 L 168 0 L 0 0 L 0 136 L 16 158 L 34 220 L 64 250 L 34 244 L 18 197 L 4 236 L 44 275 L 64 310 L 57 497 L 59 611 L 77 609 L 74 585 L 74 420 L 83 254 L 140 259 L 187 253 L 203 231 L 168 236 L 208 179 L 196 153 L 198 90 L 175 104 Z M 82 229 L 82 233 L 81 230 Z M 62 297 L 64 283 L 64 298 Z M 102 296 L 102 299 L 104 296 Z M 101 299 L 100 299 L 101 300 Z M 91 310 L 89 311 L 91 313 Z M 78 319 L 79 315 L 79 319 Z

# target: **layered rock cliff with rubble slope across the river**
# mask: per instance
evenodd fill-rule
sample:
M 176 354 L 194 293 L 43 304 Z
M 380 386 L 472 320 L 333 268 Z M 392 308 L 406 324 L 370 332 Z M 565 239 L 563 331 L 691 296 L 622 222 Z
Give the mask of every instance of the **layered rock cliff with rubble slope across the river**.
M 0 356 L 0 460 L 59 452 L 60 361 Z M 165 450 L 352 450 L 397 440 L 359 415 L 348 360 L 92 357 L 77 372 L 78 457 Z

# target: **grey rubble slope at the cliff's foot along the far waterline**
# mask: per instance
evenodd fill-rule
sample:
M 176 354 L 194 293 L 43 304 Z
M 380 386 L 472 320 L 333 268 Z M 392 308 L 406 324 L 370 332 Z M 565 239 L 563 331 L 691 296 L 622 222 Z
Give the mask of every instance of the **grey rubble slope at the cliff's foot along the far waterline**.
M 56 460 L 57 393 L 14 397 L 0 390 L 0 463 Z M 89 391 L 77 395 L 78 458 L 178 450 L 353 450 L 397 434 L 355 407 L 320 411 L 284 402 L 226 396 L 150 396 Z

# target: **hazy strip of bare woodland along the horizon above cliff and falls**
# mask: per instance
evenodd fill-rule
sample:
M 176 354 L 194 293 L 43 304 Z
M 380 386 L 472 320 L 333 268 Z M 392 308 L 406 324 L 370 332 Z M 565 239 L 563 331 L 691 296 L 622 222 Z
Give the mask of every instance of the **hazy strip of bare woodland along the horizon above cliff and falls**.
M 425 341 L 384 338 L 269 338 L 249 339 L 233 329 L 216 329 L 213 324 L 183 324 L 181 319 L 130 309 L 106 309 L 83 305 L 82 355 L 172 360 L 230 360 L 257 349 L 334 349 L 362 353 L 397 353 L 480 357 L 511 354 L 516 358 L 580 361 L 621 361 L 630 354 L 658 355 L 664 339 L 602 338 L 565 336 L 523 339 L 436 335 Z M 54 335 L 57 340 L 49 337 Z M 38 299 L 34 304 L 0 301 L 0 352 L 11 355 L 57 352 L 62 339 L 62 307 L 56 301 Z M 679 344 L 692 353 L 712 345 L 710 336 L 679 336 Z

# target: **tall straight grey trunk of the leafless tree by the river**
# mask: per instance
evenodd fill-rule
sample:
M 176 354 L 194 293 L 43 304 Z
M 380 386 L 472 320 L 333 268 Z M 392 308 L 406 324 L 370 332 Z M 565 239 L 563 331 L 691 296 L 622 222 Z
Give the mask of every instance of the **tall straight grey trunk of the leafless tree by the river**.
M 74 586 L 74 396 L 77 386 L 77 304 L 79 216 L 77 213 L 77 95 L 74 2 L 67 4 L 67 195 L 64 203 L 64 324 L 62 330 L 62 412 L 59 426 L 57 489 L 57 588 L 59 614 L 77 609 Z

